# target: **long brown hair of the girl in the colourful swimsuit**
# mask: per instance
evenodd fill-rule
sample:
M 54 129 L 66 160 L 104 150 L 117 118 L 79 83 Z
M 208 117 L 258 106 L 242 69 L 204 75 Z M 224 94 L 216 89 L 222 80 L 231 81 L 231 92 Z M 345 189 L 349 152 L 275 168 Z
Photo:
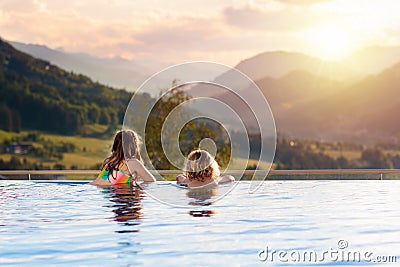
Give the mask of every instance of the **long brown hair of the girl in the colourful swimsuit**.
M 125 159 L 135 158 L 142 161 L 140 145 L 141 139 L 136 132 L 132 130 L 119 131 L 115 135 L 111 155 L 103 162 L 103 168 L 106 167 L 113 175 L 114 170 L 117 170 Z

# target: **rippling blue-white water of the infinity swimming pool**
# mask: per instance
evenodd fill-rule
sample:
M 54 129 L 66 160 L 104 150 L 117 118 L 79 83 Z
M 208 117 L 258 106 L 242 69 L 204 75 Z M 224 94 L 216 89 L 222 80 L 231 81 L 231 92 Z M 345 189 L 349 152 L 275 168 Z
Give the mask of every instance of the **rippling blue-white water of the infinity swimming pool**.
M 217 202 L 228 186 L 208 196 L 146 187 L 189 206 L 177 208 L 138 188 L 0 181 L 0 265 L 400 262 L 399 181 L 265 181 L 253 194 L 249 183 Z

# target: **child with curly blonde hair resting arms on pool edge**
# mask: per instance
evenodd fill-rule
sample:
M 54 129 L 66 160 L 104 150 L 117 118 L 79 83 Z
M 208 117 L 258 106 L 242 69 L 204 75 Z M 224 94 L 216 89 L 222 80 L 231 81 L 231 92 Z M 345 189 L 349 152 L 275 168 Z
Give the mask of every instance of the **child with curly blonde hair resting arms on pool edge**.
M 184 174 L 176 177 L 180 184 L 186 184 L 189 188 L 206 185 L 218 185 L 219 183 L 234 182 L 231 175 L 220 177 L 219 166 L 215 159 L 205 150 L 192 151 L 185 161 Z

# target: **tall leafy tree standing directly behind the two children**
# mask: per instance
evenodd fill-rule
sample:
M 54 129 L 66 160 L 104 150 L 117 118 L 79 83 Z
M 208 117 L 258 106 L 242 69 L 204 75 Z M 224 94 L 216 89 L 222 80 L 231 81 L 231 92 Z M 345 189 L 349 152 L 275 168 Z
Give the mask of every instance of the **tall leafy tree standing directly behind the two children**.
M 168 151 L 169 157 L 178 160 L 181 159 L 180 154 L 187 156 L 190 151 L 197 149 L 204 138 L 214 140 L 217 146 L 216 160 L 221 166 L 225 166 L 229 162 L 231 151 L 230 140 L 222 127 L 207 119 L 195 119 L 183 126 L 183 123 L 190 121 L 195 111 L 187 107 L 177 107 L 189 100 L 190 96 L 182 87 L 174 87 L 168 93 L 164 93 L 160 94 L 145 124 L 145 145 L 153 166 L 157 169 L 173 169 L 174 166 L 166 157 L 164 149 Z M 176 116 L 169 116 L 173 110 Z M 163 128 L 167 117 L 168 127 Z M 177 132 L 182 126 L 181 132 Z M 162 131 L 165 138 L 163 144 L 161 143 Z M 140 134 L 143 135 L 143 133 Z M 174 147 L 175 143 L 172 142 L 172 138 L 176 138 L 177 135 L 179 135 L 178 142 L 181 151 L 178 147 Z

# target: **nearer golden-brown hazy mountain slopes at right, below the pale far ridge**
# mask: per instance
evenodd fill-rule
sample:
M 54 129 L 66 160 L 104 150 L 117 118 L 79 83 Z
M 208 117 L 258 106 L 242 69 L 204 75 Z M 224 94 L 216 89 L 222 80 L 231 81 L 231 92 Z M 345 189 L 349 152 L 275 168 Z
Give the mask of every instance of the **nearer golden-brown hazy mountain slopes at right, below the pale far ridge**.
M 363 144 L 400 140 L 400 63 L 352 83 L 303 70 L 280 78 L 266 76 L 255 83 L 268 100 L 277 132 L 285 136 Z M 265 114 L 266 107 L 248 106 L 259 98 L 254 90 L 254 86 L 241 89 L 241 96 L 250 99 L 247 103 L 222 89 L 213 97 L 235 110 L 247 129 L 257 128 L 253 114 Z M 222 107 L 202 111 L 217 120 L 229 117 Z M 233 123 L 228 126 L 239 128 Z

